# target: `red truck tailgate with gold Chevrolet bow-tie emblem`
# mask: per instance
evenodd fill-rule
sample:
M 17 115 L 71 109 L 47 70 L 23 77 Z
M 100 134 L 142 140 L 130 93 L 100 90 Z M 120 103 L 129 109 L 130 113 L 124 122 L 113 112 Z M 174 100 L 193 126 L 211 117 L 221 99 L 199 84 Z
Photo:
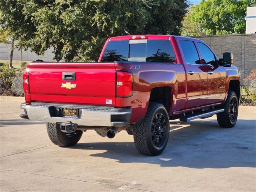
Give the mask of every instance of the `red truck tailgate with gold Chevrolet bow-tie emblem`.
M 58 102 L 115 105 L 113 63 L 30 63 L 30 99 L 33 102 Z M 75 80 L 63 80 L 62 73 L 75 73 Z

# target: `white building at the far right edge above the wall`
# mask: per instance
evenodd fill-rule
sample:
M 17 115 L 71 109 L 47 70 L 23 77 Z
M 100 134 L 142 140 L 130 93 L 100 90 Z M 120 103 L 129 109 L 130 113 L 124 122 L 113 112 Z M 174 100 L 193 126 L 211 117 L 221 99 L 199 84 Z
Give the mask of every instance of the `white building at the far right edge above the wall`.
M 256 33 L 256 7 L 246 9 L 246 34 Z

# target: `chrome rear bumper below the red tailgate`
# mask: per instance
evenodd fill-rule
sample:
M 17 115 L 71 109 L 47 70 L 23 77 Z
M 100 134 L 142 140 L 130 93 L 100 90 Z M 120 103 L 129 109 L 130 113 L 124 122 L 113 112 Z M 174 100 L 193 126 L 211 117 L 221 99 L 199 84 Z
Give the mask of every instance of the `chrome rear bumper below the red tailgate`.
M 22 103 L 20 108 L 24 109 L 25 114 L 30 120 L 39 120 L 49 123 L 72 123 L 80 126 L 125 126 L 129 123 L 132 109 L 114 108 L 105 106 L 85 106 L 69 104 L 51 104 L 32 102 L 31 104 Z M 62 117 L 56 115 L 56 109 L 77 108 L 78 118 Z

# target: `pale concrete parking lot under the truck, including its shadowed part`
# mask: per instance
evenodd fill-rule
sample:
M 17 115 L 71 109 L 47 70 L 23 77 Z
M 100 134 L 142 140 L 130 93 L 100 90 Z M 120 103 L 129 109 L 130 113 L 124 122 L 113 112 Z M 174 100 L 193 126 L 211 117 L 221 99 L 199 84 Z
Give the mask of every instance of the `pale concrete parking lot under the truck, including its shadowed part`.
M 240 106 L 234 128 L 216 116 L 171 121 L 165 151 L 139 154 L 133 137 L 93 130 L 77 145 L 50 142 L 46 124 L 19 117 L 19 101 L 0 101 L 0 191 L 256 191 L 256 107 Z

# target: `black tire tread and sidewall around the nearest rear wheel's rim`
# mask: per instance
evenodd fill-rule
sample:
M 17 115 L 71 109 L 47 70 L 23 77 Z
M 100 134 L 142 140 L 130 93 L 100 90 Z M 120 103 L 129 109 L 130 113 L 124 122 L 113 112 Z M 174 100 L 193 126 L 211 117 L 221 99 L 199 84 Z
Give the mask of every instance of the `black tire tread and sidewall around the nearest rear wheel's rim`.
M 162 145 L 157 147 L 153 143 L 152 122 L 157 114 L 162 114 L 165 119 L 165 140 L 162 140 Z M 148 156 L 157 156 L 164 151 L 169 138 L 170 122 L 166 108 L 161 103 L 151 102 L 148 105 L 148 111 L 144 120 L 140 124 L 135 124 L 133 129 L 134 144 L 137 150 Z M 159 140 L 158 140 L 159 141 Z

